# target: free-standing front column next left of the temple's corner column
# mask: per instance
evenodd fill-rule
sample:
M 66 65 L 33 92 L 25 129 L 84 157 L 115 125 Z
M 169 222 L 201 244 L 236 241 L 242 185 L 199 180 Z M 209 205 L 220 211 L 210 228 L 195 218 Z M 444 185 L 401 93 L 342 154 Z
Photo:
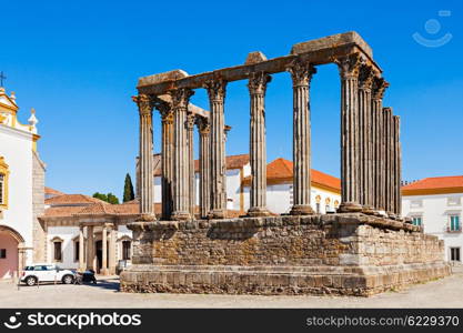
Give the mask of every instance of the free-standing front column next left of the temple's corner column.
M 313 214 L 311 202 L 311 127 L 309 87 L 315 68 L 295 60 L 289 68 L 293 82 L 293 206 L 291 214 Z

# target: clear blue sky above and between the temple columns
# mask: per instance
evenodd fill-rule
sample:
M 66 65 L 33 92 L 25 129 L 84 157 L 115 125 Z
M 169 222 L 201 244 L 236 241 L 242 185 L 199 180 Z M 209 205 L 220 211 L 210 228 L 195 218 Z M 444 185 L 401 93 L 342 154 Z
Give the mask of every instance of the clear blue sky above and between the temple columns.
M 463 174 L 463 4 L 410 2 L 2 1 L 0 70 L 7 90 L 17 93 L 20 120 L 37 109 L 47 184 L 121 196 L 138 153 L 131 95 L 139 77 L 235 65 L 255 50 L 274 58 L 296 42 L 355 30 L 391 82 L 384 105 L 402 118 L 403 178 Z M 427 48 L 412 38 L 415 32 L 452 39 Z M 229 154 L 248 152 L 245 83 L 228 89 Z M 339 89 L 338 69 L 319 68 L 311 89 L 312 167 L 334 175 Z M 207 108 L 205 92 L 197 91 L 192 102 Z M 274 75 L 266 98 L 269 161 L 292 157 L 291 112 L 289 74 Z M 159 151 L 159 121 L 154 131 Z

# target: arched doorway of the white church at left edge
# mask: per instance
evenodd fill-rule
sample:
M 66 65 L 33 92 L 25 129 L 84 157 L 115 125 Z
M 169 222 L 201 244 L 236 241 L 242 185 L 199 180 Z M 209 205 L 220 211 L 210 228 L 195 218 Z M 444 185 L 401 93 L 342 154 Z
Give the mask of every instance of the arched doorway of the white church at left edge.
M 19 253 L 24 240 L 12 228 L 0 225 L 0 279 L 11 279 L 22 270 L 23 254 Z

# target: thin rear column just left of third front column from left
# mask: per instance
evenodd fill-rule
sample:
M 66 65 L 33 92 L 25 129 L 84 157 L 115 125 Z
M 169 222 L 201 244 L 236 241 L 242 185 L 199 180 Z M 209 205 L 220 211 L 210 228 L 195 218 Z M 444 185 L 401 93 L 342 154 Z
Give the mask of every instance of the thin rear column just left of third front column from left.
M 200 214 L 201 219 L 207 219 L 211 209 L 211 124 L 208 118 L 197 118 L 198 130 L 200 132 Z

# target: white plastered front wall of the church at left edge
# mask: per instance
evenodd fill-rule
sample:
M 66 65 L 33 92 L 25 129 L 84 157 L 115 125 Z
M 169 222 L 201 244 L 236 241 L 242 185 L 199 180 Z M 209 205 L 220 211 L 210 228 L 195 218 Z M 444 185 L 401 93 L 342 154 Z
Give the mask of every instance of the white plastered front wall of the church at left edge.
M 32 246 L 32 134 L 0 124 L 0 157 L 9 167 L 8 209 L 0 224 L 16 230 Z M 31 253 L 27 255 L 28 263 Z

